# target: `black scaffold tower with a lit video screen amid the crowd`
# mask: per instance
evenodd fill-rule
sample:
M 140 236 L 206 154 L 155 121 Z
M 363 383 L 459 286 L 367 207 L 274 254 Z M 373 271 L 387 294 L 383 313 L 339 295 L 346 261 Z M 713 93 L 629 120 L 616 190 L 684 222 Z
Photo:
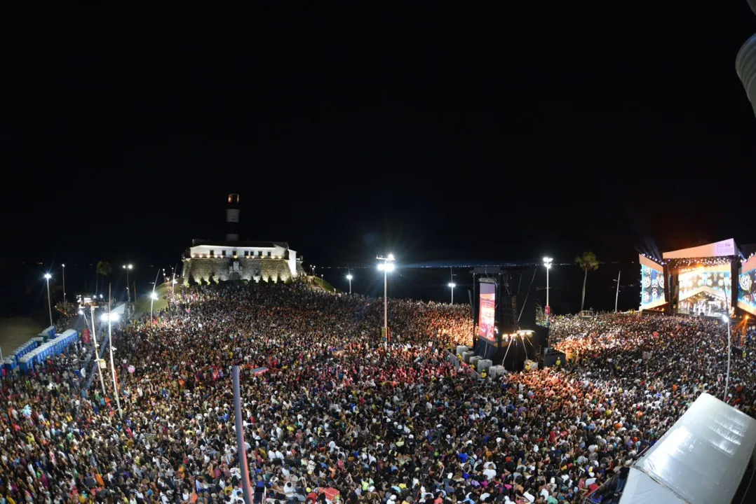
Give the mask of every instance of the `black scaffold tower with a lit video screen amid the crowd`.
M 522 370 L 548 346 L 548 328 L 535 324 L 532 288 L 538 266 L 472 269 L 472 323 L 477 356 Z

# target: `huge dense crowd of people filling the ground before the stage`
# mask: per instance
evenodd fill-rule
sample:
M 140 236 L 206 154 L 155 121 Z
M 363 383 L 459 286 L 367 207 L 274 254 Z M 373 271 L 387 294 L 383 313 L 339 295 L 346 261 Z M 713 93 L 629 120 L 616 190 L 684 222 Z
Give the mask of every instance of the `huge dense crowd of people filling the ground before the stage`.
M 70 355 L 0 382 L 0 504 L 242 502 L 234 364 L 268 504 L 580 502 L 725 392 L 715 322 L 556 318 L 568 363 L 485 380 L 445 350 L 471 343 L 469 306 L 390 300 L 389 323 L 387 342 L 383 300 L 305 284 L 176 290 L 117 331 L 118 401 L 112 380 L 82 397 Z M 753 362 L 734 359 L 729 401 L 754 414 Z

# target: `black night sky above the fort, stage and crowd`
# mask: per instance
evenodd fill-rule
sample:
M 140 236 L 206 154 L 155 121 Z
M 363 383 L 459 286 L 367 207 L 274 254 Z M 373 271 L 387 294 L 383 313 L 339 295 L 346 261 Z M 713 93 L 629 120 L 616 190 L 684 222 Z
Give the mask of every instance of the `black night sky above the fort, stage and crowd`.
M 3 263 L 172 264 L 229 192 L 330 266 L 756 242 L 745 0 L 590 3 L 16 26 Z

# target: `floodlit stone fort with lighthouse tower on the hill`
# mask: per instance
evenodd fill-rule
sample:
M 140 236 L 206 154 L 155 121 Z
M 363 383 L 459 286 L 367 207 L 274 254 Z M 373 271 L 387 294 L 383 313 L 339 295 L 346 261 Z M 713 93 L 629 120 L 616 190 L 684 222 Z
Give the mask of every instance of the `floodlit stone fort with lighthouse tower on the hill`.
M 239 241 L 240 199 L 228 195 L 226 239 L 192 240 L 184 251 L 184 284 L 211 281 L 290 281 L 304 273 L 302 257 L 284 241 Z

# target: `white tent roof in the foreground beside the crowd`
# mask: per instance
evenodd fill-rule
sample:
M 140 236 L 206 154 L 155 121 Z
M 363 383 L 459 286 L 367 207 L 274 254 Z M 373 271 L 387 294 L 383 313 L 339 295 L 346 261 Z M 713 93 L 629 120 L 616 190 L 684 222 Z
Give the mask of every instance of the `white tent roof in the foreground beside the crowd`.
M 631 468 L 620 503 L 730 502 L 754 447 L 756 420 L 702 394 Z

